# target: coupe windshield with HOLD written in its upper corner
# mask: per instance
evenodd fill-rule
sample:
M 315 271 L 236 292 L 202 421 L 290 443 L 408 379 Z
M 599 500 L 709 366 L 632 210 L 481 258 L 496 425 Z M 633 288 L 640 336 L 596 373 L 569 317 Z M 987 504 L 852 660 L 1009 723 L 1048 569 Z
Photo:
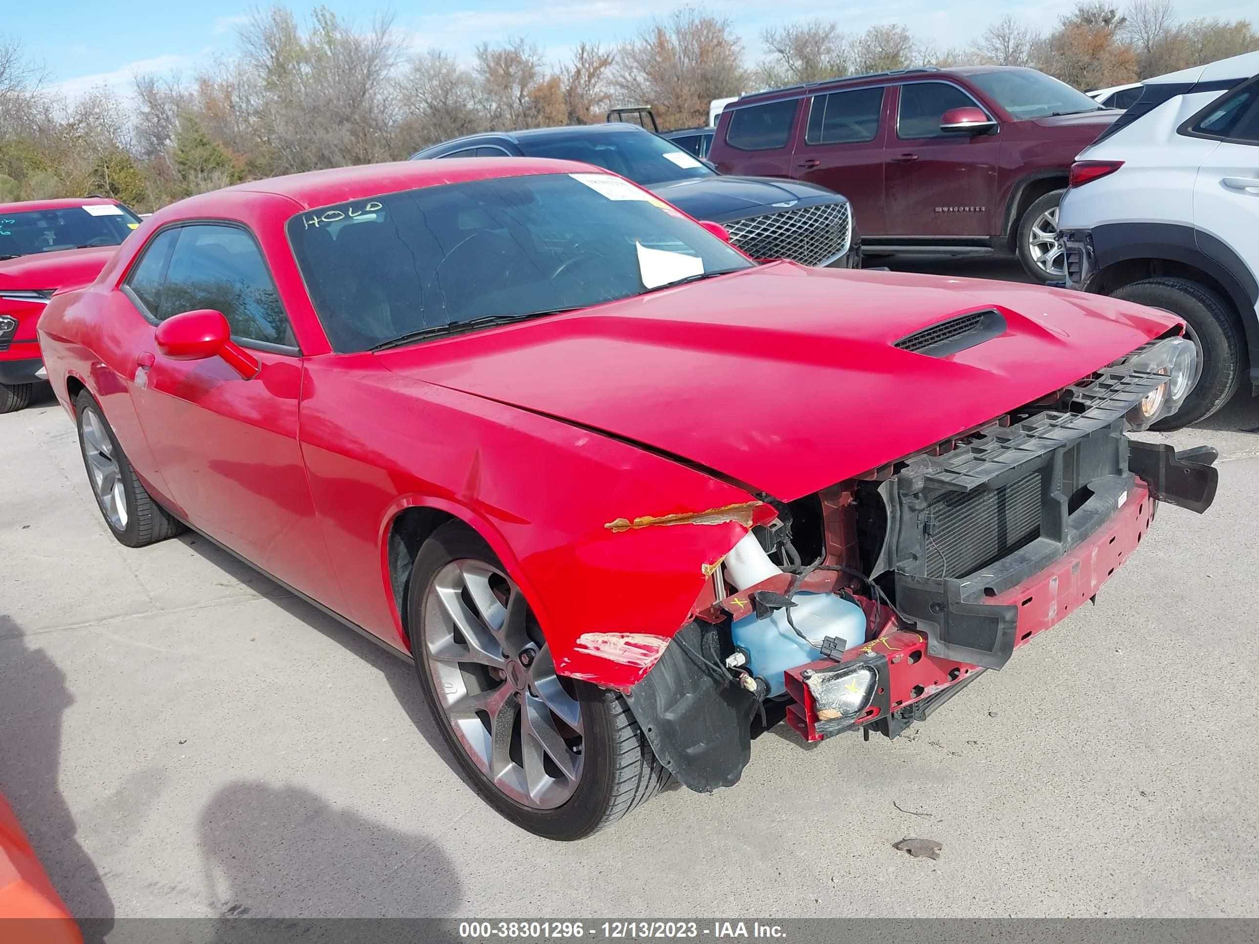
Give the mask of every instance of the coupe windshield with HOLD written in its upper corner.
M 337 351 L 753 266 L 651 194 L 594 172 L 354 200 L 293 216 L 288 235 Z

